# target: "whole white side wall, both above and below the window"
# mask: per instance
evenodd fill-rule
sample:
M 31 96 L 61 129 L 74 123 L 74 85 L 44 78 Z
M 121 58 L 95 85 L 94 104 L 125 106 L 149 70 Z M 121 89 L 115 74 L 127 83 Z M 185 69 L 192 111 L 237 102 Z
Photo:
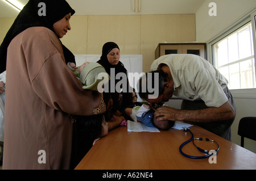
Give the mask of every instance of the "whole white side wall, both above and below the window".
M 217 16 L 209 16 L 210 2 L 216 3 Z M 196 41 L 209 43 L 255 7 L 255 0 L 206 0 L 196 12 Z M 231 92 L 237 106 L 237 116 L 232 125 L 232 142 L 240 145 L 238 123 L 242 117 L 256 116 L 256 90 Z M 256 141 L 246 138 L 245 148 L 256 153 Z

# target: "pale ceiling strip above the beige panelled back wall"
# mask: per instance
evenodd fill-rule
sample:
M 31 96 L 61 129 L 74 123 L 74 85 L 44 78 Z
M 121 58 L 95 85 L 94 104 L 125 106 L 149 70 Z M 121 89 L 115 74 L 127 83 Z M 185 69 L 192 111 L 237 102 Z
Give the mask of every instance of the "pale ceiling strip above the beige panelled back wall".
M 18 11 L 0 0 L 0 18 L 16 17 Z M 28 0 L 17 0 L 26 5 Z M 53 0 L 54 1 L 54 0 Z M 141 0 L 141 12 L 133 12 L 134 0 L 66 0 L 75 15 L 195 14 L 205 0 Z

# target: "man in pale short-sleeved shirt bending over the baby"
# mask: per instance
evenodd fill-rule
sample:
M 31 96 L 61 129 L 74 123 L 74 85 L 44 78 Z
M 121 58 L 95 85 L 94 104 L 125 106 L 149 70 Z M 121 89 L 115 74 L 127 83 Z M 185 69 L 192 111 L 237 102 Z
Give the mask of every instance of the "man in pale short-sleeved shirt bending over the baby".
M 150 73 L 152 77 L 148 76 Z M 154 92 L 148 90 L 139 91 L 139 95 L 151 108 L 163 105 L 172 95 L 183 99 L 181 110 L 157 108 L 154 113 L 157 121 L 189 121 L 231 140 L 230 127 L 236 117 L 236 105 L 228 81 L 207 60 L 193 54 L 168 54 L 152 63 L 150 73 L 144 75 L 146 79 L 139 80 L 139 90 L 158 81 L 158 87 L 153 87 L 158 96 L 152 96 Z

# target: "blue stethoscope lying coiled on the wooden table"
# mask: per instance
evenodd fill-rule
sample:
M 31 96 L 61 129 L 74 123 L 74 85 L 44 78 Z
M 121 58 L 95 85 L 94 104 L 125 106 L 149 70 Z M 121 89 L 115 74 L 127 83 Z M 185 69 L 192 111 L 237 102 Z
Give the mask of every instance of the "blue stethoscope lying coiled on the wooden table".
M 180 145 L 180 153 L 181 153 L 183 156 L 188 157 L 188 158 L 193 158 L 193 159 L 203 159 L 203 158 L 208 158 L 208 157 L 210 157 L 210 156 L 213 155 L 213 153 L 210 153 L 211 151 L 209 151 L 209 150 L 204 150 L 204 149 L 201 149 L 201 148 L 199 148 L 198 146 L 196 146 L 195 140 L 200 140 L 200 141 L 202 141 L 203 138 L 194 138 L 193 133 L 189 130 L 189 128 L 187 128 L 187 127 L 183 127 L 183 128 L 184 128 L 184 131 L 185 131 L 185 132 L 191 133 L 191 138 L 190 138 L 188 141 L 185 141 L 185 142 L 183 142 L 183 144 Z M 212 142 L 214 142 L 214 143 L 218 146 L 218 148 L 217 148 L 216 150 L 214 150 L 214 151 L 215 151 L 215 154 L 217 154 L 217 153 L 218 153 L 218 150 L 220 149 L 220 146 L 218 145 L 218 143 L 217 143 L 216 141 L 214 141 L 214 140 L 210 140 L 209 138 L 205 138 L 205 140 L 206 140 L 206 141 L 212 141 Z M 188 144 L 188 143 L 191 142 L 191 141 L 193 141 L 193 145 L 195 145 L 196 148 L 197 148 L 199 151 L 201 151 L 202 153 L 205 153 L 206 155 L 196 157 L 196 156 L 191 156 L 191 155 L 185 154 L 185 153 L 182 151 L 182 148 L 183 148 L 183 146 L 184 146 L 185 144 Z

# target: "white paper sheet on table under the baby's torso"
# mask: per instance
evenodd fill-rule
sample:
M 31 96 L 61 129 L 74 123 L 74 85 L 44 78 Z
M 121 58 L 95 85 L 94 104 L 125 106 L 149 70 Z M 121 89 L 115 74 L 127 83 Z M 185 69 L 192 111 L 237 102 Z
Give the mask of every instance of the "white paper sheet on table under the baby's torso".
M 147 127 L 143 123 L 127 120 L 128 132 L 160 132 L 158 128 Z

